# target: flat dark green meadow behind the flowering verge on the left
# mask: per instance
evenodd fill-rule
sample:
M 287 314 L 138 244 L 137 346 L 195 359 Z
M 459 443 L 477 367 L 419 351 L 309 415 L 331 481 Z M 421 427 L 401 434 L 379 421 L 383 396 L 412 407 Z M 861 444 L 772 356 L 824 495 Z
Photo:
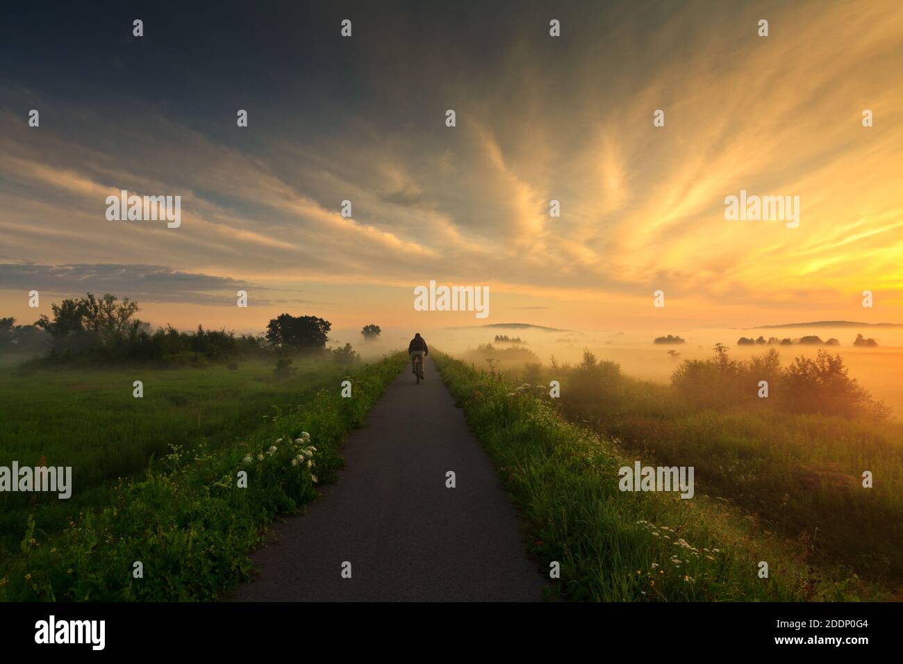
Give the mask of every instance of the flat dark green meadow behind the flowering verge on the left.
M 292 379 L 273 363 L 242 361 L 200 369 L 0 368 L 0 464 L 72 466 L 69 500 L 55 494 L 0 493 L 0 556 L 18 549 L 34 513 L 38 531 L 63 528 L 88 507 L 106 505 L 118 478 L 143 472 L 171 445 L 210 450 L 233 444 L 273 414 L 339 384 L 346 369 L 330 359 L 301 359 Z M 144 382 L 144 397 L 132 384 Z

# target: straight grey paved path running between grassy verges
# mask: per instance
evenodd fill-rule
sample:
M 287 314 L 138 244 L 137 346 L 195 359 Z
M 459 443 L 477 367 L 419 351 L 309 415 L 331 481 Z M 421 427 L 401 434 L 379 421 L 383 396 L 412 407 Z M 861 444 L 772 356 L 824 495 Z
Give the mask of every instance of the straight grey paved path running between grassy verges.
M 545 579 L 489 456 L 429 357 L 425 374 L 416 385 L 408 367 L 386 389 L 349 435 L 339 482 L 272 526 L 276 543 L 252 556 L 259 577 L 229 600 L 542 599 Z

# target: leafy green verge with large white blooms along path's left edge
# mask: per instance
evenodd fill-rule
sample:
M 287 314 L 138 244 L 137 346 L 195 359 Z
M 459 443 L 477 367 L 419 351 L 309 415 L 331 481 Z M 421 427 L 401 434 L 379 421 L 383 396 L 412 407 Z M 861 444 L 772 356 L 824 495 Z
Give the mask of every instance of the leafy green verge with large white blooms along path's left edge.
M 228 444 L 171 444 L 153 470 L 114 482 L 108 504 L 73 514 L 61 532 L 42 534 L 42 513 L 30 513 L 19 553 L 0 566 L 0 600 L 215 598 L 247 578 L 265 523 L 334 481 L 344 436 L 406 362 L 399 353 L 358 369 L 350 398 L 334 380 L 292 405 L 260 407 L 260 424 L 237 441 L 223 433 Z M 296 390 L 310 388 L 298 381 Z

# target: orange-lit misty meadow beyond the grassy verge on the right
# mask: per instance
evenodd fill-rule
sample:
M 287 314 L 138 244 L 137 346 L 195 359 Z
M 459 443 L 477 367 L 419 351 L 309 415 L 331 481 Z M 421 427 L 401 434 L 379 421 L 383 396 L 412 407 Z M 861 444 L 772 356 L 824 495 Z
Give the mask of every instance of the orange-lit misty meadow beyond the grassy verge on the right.
M 699 392 L 684 395 L 685 374 L 659 385 L 605 361 L 529 371 L 532 383 L 561 382 L 558 403 L 570 419 L 656 463 L 694 466 L 700 491 L 759 514 L 814 560 L 852 566 L 876 583 L 903 580 L 903 423 L 868 409 L 788 412 L 774 394 L 759 399 L 755 381 L 741 390 L 745 400 L 725 387 L 720 405 L 709 406 Z M 863 471 L 873 488 L 862 486 Z

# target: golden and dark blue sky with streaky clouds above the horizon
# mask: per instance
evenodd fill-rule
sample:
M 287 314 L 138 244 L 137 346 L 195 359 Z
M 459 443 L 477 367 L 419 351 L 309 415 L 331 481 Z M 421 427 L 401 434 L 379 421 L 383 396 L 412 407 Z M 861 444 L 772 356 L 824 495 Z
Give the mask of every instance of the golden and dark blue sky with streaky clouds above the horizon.
M 0 11 L 0 315 L 20 323 L 88 291 L 237 332 L 903 323 L 897 0 Z M 121 190 L 181 196 L 181 226 L 107 220 Z M 741 190 L 798 196 L 799 226 L 726 220 Z M 489 316 L 416 311 L 431 280 L 489 286 Z

